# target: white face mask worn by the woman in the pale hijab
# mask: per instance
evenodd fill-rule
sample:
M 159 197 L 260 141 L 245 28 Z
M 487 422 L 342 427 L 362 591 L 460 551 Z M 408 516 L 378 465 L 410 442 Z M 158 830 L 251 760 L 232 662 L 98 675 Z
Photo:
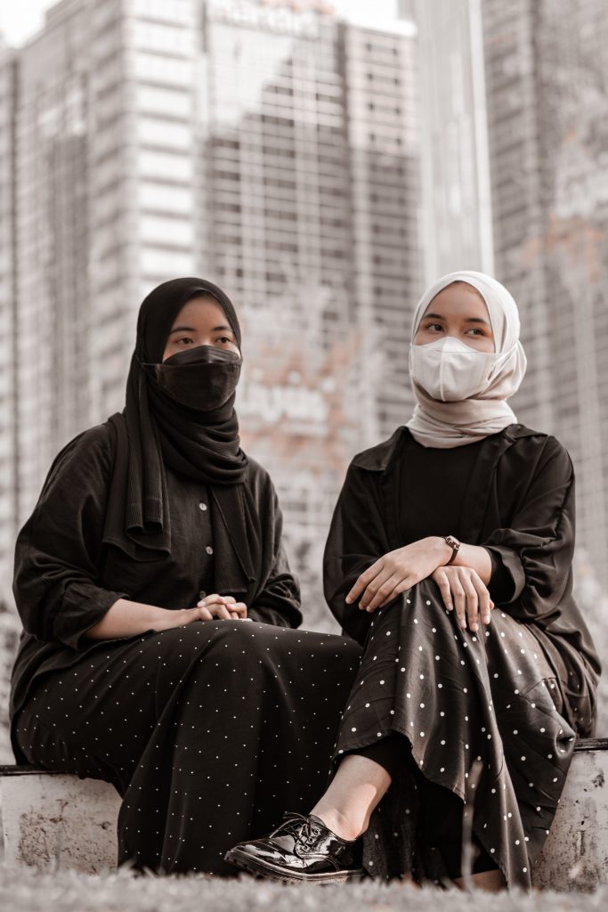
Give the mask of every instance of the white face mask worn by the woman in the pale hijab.
M 428 345 L 410 345 L 409 374 L 433 399 L 458 402 L 483 392 L 501 358 L 493 351 L 478 351 L 454 336 Z

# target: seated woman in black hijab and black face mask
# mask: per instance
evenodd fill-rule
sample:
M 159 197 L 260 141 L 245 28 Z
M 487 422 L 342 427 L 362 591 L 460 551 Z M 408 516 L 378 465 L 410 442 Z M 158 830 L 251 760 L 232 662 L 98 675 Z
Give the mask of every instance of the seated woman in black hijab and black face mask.
M 123 411 L 71 440 L 18 535 L 18 762 L 112 782 L 119 863 L 232 874 L 325 784 L 359 648 L 295 631 L 268 474 L 242 452 L 241 333 L 210 282 L 139 310 Z M 323 683 L 323 687 L 319 686 Z

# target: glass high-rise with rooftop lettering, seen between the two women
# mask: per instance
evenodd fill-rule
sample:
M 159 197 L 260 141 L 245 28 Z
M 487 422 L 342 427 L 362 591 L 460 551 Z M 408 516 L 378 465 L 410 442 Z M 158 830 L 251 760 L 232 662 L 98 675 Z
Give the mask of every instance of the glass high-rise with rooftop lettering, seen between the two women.
M 407 415 L 407 307 L 419 285 L 413 36 L 256 15 L 252 27 L 240 9 L 207 6 L 203 246 L 242 302 L 245 439 L 283 494 L 318 604 L 345 462 Z

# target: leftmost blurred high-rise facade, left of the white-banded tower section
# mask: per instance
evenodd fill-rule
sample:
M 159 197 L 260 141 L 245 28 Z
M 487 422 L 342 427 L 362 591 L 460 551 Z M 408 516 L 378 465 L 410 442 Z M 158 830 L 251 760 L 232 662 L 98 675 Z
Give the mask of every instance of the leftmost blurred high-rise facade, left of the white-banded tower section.
M 15 93 L 15 438 L 17 515 L 49 454 L 90 414 L 91 109 L 86 5 L 52 10 L 19 52 Z

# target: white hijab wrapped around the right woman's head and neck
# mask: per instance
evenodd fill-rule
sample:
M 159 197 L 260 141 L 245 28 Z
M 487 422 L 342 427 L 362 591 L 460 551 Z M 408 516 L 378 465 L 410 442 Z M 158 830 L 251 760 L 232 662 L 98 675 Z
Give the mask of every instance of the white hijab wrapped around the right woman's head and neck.
M 414 312 L 412 344 L 428 305 L 453 282 L 466 282 L 482 295 L 488 307 L 495 350 L 502 357 L 498 358 L 485 388 L 469 399 L 455 402 L 433 399 L 412 380 L 417 406 L 407 427 L 423 446 L 442 449 L 474 443 L 517 422 L 506 399 L 519 389 L 527 364 L 520 343 L 520 315 L 510 293 L 491 276 L 467 270 L 444 275 L 422 295 Z

